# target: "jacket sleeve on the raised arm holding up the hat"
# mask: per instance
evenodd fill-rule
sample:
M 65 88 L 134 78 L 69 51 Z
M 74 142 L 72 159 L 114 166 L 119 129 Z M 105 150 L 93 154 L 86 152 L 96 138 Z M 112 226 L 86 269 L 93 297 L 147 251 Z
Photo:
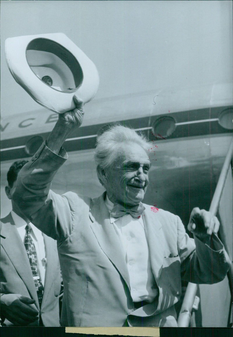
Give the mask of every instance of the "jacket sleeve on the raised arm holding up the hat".
M 75 193 L 59 195 L 50 190 L 51 182 L 68 155 L 61 148 L 59 155 L 45 144 L 25 164 L 17 177 L 12 199 L 43 233 L 63 241 L 72 231 Z

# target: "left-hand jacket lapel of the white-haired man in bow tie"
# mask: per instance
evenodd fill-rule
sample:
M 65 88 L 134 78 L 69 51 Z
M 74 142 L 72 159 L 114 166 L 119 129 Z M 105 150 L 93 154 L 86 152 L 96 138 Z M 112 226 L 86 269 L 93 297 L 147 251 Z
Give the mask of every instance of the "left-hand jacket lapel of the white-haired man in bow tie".
M 105 194 L 105 193 L 104 193 Z M 121 243 L 109 219 L 109 212 L 104 202 L 104 194 L 94 199 L 90 204 L 89 217 L 92 220 L 91 228 L 96 239 L 112 264 L 129 285 L 129 273 L 121 249 Z

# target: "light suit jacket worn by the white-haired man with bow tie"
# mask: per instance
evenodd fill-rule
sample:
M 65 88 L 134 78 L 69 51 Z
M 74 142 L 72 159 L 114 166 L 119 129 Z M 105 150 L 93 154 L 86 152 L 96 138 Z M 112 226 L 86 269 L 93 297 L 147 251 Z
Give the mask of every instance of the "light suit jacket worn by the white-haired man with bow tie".
M 198 239 L 194 242 L 178 216 L 144 204 L 159 295 L 152 304 L 134 310 L 125 257 L 104 196 L 91 200 L 50 190 L 64 160 L 43 144 L 19 173 L 13 195 L 33 224 L 58 241 L 64 283 L 61 325 L 113 327 L 127 320 L 141 326 L 143 317 L 144 326 L 176 326 L 174 304 L 181 295 L 181 277 L 194 283 L 221 281 L 230 264 L 222 243 L 216 236 L 212 249 Z

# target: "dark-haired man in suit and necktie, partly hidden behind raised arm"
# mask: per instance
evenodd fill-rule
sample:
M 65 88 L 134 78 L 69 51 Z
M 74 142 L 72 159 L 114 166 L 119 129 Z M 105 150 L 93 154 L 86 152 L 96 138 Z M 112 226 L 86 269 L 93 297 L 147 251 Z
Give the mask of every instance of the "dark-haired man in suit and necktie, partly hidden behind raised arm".
M 56 241 L 42 234 L 11 198 L 27 162 L 14 162 L 7 173 L 5 192 L 12 211 L 1 219 L 1 321 L 6 326 L 59 326 Z

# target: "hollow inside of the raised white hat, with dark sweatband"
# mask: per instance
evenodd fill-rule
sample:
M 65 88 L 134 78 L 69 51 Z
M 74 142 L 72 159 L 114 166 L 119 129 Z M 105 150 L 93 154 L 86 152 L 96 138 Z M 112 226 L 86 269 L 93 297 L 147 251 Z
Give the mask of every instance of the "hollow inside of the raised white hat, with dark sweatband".
M 28 65 L 46 85 L 62 92 L 74 92 L 81 86 L 83 72 L 77 59 L 59 43 L 36 38 L 26 49 Z

